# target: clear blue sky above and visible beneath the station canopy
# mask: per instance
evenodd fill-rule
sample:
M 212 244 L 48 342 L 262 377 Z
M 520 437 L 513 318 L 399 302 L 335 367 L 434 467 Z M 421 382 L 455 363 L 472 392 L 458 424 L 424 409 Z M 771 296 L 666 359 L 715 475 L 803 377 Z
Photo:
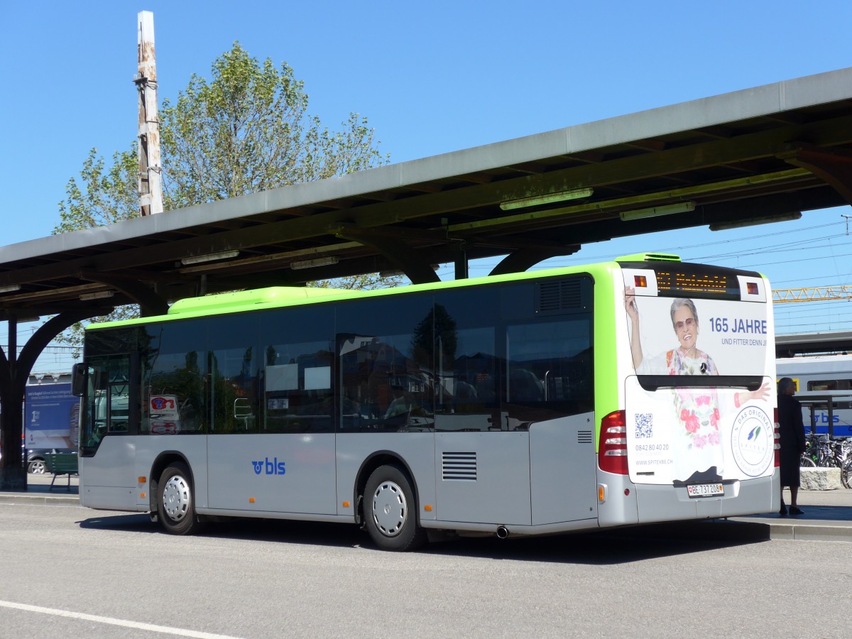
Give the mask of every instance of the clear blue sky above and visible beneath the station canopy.
M 286 60 L 332 129 L 348 112 L 366 115 L 392 162 L 852 66 L 848 0 L 4 4 L 2 245 L 51 233 L 89 148 L 109 158 L 134 143 L 141 10 L 154 14 L 160 101 L 193 72 L 209 76 L 239 40 L 259 59 Z M 852 284 L 849 214 L 623 239 L 572 259 L 669 249 L 755 268 L 776 288 Z M 787 305 L 779 331 L 852 329 L 846 303 Z M 70 366 L 53 355 L 37 370 Z

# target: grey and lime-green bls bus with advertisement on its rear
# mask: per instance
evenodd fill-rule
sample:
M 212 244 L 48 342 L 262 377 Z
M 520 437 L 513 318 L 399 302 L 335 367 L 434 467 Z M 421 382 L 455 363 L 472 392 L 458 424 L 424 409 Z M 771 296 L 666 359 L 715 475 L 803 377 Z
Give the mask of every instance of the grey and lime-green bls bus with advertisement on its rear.
M 640 254 L 89 325 L 80 501 L 383 550 L 777 512 L 770 308 L 759 273 Z

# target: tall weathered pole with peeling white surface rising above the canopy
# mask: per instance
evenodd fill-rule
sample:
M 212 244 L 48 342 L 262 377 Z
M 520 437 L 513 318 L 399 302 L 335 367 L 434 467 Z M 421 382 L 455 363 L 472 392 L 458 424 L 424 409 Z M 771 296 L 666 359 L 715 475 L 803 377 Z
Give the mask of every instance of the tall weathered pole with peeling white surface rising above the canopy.
M 133 81 L 139 90 L 139 214 L 150 216 L 163 212 L 154 14 L 150 11 L 140 11 L 137 22 L 139 72 Z

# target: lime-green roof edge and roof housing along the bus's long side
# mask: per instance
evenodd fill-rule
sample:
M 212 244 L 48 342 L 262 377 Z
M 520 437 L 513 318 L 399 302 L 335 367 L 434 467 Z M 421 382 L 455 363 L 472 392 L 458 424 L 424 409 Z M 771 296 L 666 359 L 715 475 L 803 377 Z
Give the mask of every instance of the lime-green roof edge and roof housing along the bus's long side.
M 240 313 L 244 311 L 261 310 L 263 308 L 286 308 L 315 302 L 340 302 L 355 298 L 366 299 L 368 297 L 400 295 L 409 291 L 430 291 L 438 287 L 442 289 L 452 289 L 488 283 L 551 277 L 561 274 L 593 273 L 596 270 L 600 271 L 600 269 L 608 269 L 615 266 L 617 266 L 615 262 L 596 262 L 594 264 L 584 264 L 575 267 L 548 268 L 540 271 L 524 271 L 522 273 L 506 273 L 502 275 L 486 275 L 484 277 L 469 279 L 451 279 L 446 282 L 440 281 L 428 282 L 426 284 L 394 286 L 384 289 L 371 289 L 370 291 L 313 288 L 306 286 L 270 286 L 262 289 L 216 293 L 201 297 L 185 297 L 173 303 L 169 308 L 168 313 L 164 315 L 150 315 L 148 317 L 137 317 L 131 320 L 116 320 L 111 322 L 101 322 L 99 324 L 89 324 L 85 327 L 85 330 L 96 331 L 101 328 L 142 325 L 155 321 L 181 320 L 193 317 L 204 317 L 206 315 Z M 175 307 L 177 307 L 176 310 L 172 311 L 172 308 Z

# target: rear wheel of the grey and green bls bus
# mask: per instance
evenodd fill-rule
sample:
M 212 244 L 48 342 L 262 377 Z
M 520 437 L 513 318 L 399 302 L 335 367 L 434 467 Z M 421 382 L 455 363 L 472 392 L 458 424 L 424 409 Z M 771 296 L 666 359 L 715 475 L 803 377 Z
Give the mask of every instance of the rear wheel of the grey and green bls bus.
M 367 480 L 364 523 L 381 550 L 416 550 L 426 542 L 426 531 L 417 524 L 411 482 L 397 466 L 380 466 Z

